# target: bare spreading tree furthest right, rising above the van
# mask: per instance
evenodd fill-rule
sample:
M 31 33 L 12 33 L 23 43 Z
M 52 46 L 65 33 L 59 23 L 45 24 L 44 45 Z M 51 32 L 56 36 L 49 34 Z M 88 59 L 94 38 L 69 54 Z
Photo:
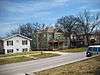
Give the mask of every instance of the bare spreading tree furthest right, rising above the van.
M 95 27 L 100 24 L 100 15 L 99 13 L 92 14 L 85 10 L 78 16 L 78 19 L 81 32 L 85 35 L 85 44 L 89 45 L 90 34 L 94 31 Z

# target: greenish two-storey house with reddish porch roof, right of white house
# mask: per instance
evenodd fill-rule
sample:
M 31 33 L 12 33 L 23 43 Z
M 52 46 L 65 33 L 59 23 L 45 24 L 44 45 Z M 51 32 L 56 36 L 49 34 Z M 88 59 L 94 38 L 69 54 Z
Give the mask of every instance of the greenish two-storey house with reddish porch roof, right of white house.
M 37 33 L 37 49 L 54 50 L 64 46 L 64 34 L 53 28 L 48 28 Z

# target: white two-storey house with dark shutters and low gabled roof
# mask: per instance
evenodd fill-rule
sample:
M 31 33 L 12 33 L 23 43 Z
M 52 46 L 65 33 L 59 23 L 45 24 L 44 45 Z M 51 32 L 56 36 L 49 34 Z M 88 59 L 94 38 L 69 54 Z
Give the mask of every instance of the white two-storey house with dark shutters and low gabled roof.
M 20 34 L 9 36 L 3 40 L 4 53 L 19 53 L 30 50 L 30 41 L 32 39 Z

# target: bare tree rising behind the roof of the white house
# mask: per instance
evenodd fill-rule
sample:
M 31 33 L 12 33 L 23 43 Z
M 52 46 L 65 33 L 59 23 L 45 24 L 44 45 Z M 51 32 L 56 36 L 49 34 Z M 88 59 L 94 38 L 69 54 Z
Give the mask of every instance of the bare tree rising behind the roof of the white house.
M 18 26 L 19 27 L 17 29 L 13 29 L 10 32 L 8 32 L 7 36 L 14 35 L 14 34 L 21 34 L 26 37 L 32 38 L 32 33 L 34 31 L 34 28 L 31 23 L 26 23 Z

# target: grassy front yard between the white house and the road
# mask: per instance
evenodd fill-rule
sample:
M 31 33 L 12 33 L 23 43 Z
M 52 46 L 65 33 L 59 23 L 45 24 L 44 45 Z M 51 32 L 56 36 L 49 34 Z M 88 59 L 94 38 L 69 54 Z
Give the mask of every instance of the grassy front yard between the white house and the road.
M 44 53 L 44 52 L 43 54 L 41 54 L 40 51 L 0 55 L 0 65 L 16 63 L 16 62 L 24 62 L 24 61 L 29 61 L 29 60 L 36 60 L 40 58 L 53 57 L 53 56 L 58 56 L 58 55 L 59 54 Z

